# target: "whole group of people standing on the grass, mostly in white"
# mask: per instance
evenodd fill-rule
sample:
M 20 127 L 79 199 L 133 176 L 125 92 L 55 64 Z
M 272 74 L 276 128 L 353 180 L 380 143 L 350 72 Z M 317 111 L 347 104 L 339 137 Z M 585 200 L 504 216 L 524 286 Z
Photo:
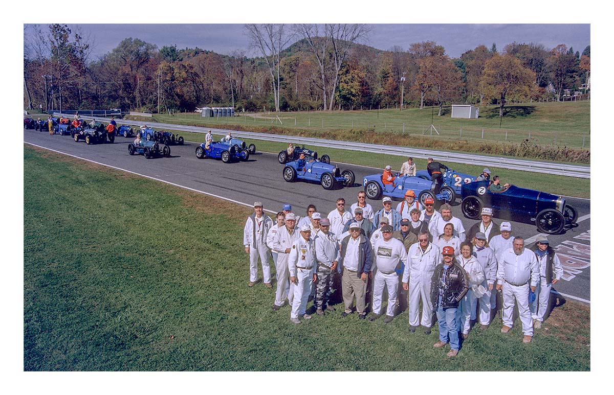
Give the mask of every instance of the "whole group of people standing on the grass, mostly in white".
M 407 309 L 409 332 L 422 326 L 430 334 L 435 313 L 439 341 L 433 347 L 449 343 L 449 357 L 457 355 L 472 323 L 479 321 L 481 331 L 488 329 L 497 311 L 496 291 L 502 291 L 501 332 L 512 328 L 517 304 L 523 342 L 531 341 L 548 311 L 551 285 L 563 274 L 546 237 L 525 246 L 523 237 L 512 235 L 509 222 L 492 221 L 489 207 L 482 210 L 481 221 L 465 231 L 449 204 L 437 211 L 429 198 L 423 207 L 413 191 L 396 209 L 389 197 L 382 205 L 375 212 L 360 191 L 349 210 L 343 197 L 326 216 L 311 204 L 300 217 L 284 204 L 273 220 L 263 212 L 262 202 L 254 202 L 243 233 L 250 260 L 248 285 L 257 282 L 259 258 L 263 282 L 273 288 L 272 258 L 273 310 L 289 304 L 295 324 L 311 319 L 310 296 L 317 315 L 334 312 L 332 296 L 338 290 L 342 317 L 356 310 L 359 319 L 384 316 L 384 323 L 390 323 Z

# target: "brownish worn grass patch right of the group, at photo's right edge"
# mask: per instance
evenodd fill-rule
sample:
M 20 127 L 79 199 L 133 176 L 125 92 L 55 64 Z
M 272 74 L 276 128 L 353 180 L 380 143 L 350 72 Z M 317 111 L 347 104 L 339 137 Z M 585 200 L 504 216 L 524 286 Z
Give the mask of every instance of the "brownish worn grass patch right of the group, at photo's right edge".
M 542 334 L 556 336 L 575 348 L 590 346 L 591 308 L 587 305 L 565 301 L 555 307 L 548 319 L 542 324 Z

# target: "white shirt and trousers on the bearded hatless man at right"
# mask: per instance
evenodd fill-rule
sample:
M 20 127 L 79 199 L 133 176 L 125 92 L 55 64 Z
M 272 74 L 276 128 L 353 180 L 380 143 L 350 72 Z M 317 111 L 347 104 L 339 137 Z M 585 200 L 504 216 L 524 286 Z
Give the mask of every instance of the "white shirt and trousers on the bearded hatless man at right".
M 525 336 L 533 336 L 533 320 L 529 311 L 529 282 L 537 286 L 539 282 L 539 267 L 535 253 L 524 248 L 516 255 L 513 248 L 503 251 L 497 282 L 503 285 L 503 325 L 511 328 L 513 325 L 514 304 L 518 303 L 518 313 L 523 323 Z

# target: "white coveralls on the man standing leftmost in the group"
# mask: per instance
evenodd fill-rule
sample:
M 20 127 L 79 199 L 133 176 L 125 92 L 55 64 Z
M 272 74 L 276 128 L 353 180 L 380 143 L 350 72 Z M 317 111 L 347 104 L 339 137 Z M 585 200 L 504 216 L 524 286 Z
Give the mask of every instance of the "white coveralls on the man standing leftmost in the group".
M 271 268 L 268 261 L 271 253 L 266 245 L 266 236 L 271 226 L 273 226 L 273 221 L 266 214 L 263 214 L 261 218 L 250 215 L 245 222 L 243 245 L 249 247 L 249 281 L 251 282 L 255 282 L 258 277 L 258 256 L 262 263 L 263 281 L 271 282 Z

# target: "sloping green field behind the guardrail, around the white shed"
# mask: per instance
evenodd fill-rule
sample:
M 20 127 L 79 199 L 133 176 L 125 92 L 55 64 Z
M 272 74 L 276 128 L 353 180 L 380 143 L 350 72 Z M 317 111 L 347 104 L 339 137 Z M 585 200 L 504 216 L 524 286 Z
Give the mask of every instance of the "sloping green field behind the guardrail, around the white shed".
M 591 147 L 590 101 L 534 102 L 510 104 L 499 127 L 499 108 L 480 108 L 480 118 L 451 118 L 450 109 L 437 117 L 437 108 L 333 111 L 238 113 L 234 118 L 202 118 L 199 113 L 155 114 L 153 121 L 198 126 L 235 125 L 238 128 L 281 128 L 287 131 L 375 131 L 397 132 L 404 136 L 432 137 L 439 140 L 522 142 L 535 139 L 537 144 L 567 147 Z M 86 114 L 87 115 L 87 114 Z M 277 118 L 279 117 L 279 119 Z M 280 123 L 281 121 L 281 123 Z M 440 136 L 429 129 L 431 121 Z M 482 136 L 482 131 L 484 134 Z M 432 134 L 432 136 L 431 136 Z

